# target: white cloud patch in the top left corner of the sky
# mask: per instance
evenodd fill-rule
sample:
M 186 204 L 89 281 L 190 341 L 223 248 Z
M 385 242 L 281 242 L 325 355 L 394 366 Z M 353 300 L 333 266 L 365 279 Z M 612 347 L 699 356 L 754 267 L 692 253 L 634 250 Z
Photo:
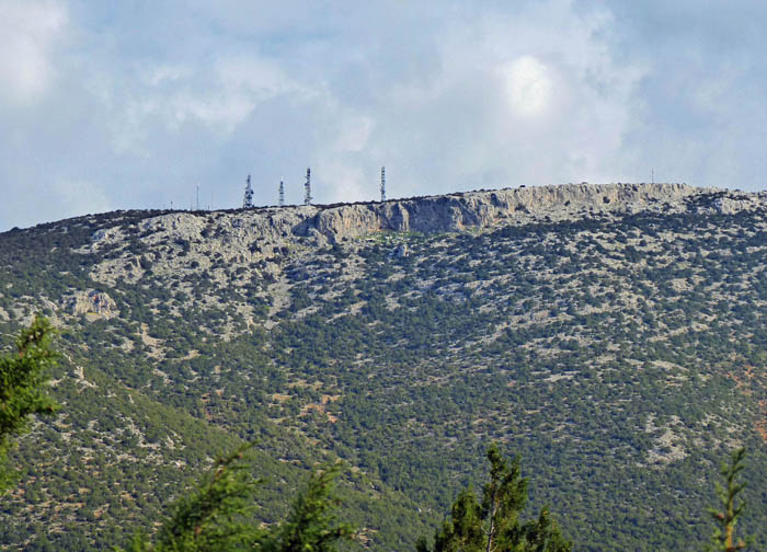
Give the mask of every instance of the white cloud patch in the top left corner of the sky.
M 67 20 L 54 0 L 0 2 L 0 97 L 30 104 L 46 91 L 55 72 L 53 47 Z

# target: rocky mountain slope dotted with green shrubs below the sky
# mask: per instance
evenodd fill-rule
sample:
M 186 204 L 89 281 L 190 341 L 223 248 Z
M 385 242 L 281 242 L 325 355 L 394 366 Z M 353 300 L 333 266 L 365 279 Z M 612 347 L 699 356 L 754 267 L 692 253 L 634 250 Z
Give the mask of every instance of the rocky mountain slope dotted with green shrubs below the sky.
M 766 267 L 767 194 L 684 184 L 14 229 L 0 334 L 36 311 L 61 329 L 64 407 L 15 452 L 0 545 L 123 543 L 252 439 L 264 521 L 341 458 L 373 550 L 431 536 L 492 441 L 576 550 L 699 550 L 719 462 L 745 445 L 758 533 Z

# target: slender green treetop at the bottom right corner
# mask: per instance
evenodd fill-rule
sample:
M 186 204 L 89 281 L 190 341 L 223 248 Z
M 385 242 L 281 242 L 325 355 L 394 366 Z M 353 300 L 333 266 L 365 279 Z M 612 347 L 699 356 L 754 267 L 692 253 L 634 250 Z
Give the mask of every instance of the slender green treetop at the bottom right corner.
M 717 495 L 721 501 L 723 511 L 716 508 L 709 508 L 709 514 L 717 524 L 711 541 L 713 547 L 710 550 L 735 552 L 744 550 L 746 541 L 739 539 L 735 543 L 735 524 L 745 509 L 746 503 L 741 501 L 737 503 L 737 495 L 745 488 L 745 483 L 739 483 L 737 474 L 743 471 L 743 459 L 746 456 L 746 449 L 740 448 L 732 452 L 730 465 L 722 463 L 720 473 L 726 481 L 726 488 L 721 483 L 717 482 Z

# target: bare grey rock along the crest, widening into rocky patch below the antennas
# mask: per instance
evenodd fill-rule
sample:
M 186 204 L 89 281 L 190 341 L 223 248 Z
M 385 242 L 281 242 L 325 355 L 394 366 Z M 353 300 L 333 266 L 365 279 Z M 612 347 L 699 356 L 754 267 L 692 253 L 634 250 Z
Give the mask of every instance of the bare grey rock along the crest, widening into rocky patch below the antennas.
M 139 220 L 114 216 L 81 254 L 101 254 L 94 281 L 140 280 L 147 269 L 175 279 L 205 272 L 221 287 L 250 278 L 279 280 L 301 248 L 322 248 L 380 232 L 438 234 L 627 214 L 733 214 L 767 205 L 767 195 L 686 184 L 566 184 L 477 191 L 388 202 L 174 211 Z M 108 215 L 106 215 L 108 217 Z M 138 238 L 138 244 L 128 245 Z M 396 244 L 397 246 L 397 244 Z M 110 251 L 107 255 L 104 252 Z M 232 272 L 240 271 L 239 279 Z

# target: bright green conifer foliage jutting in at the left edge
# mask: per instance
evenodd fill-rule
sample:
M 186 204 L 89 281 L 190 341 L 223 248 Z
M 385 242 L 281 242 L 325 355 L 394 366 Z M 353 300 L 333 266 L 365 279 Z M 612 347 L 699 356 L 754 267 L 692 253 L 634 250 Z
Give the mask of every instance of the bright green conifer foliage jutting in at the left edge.
M 50 322 L 38 314 L 16 337 L 16 354 L 0 357 L 0 494 L 16 479 L 8 460 L 12 438 L 28 432 L 33 414 L 50 415 L 58 410 L 43 389 L 58 356 L 50 349 L 54 332 Z

